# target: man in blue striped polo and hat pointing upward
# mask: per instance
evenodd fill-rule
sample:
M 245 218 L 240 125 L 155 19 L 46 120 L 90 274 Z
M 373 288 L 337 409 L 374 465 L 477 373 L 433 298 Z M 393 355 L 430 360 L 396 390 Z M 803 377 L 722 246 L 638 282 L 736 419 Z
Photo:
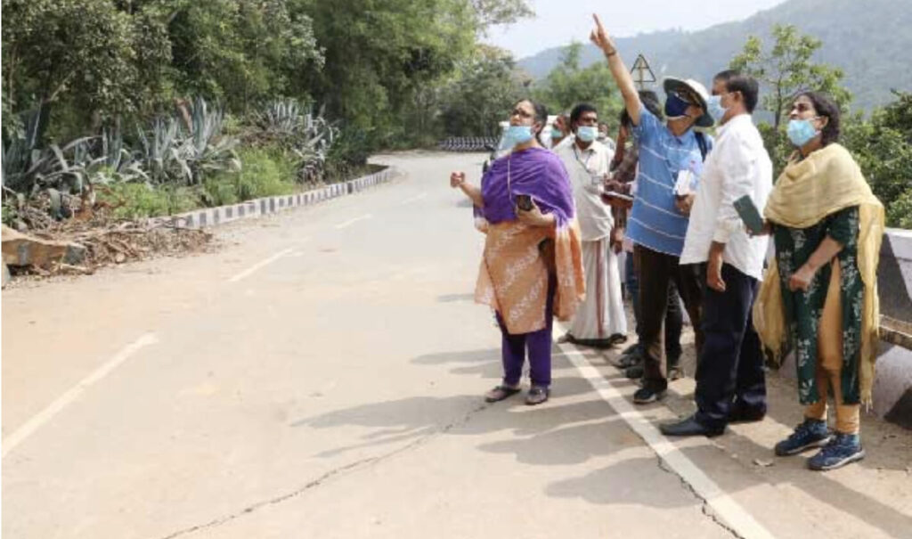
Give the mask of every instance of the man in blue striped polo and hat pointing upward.
M 674 282 L 688 309 L 698 352 L 703 344 L 700 330 L 700 278 L 694 265 L 679 265 L 687 232 L 693 196 L 678 200 L 676 185 L 698 179 L 711 139 L 694 127 L 711 127 L 706 88 L 694 80 L 666 78 L 665 123 L 644 108 L 630 72 L 617 53 L 598 16 L 592 41 L 604 53 L 608 68 L 624 98 L 639 144 L 637 198 L 627 222 L 627 235 L 634 243 L 634 264 L 639 280 L 639 336 L 642 338 L 643 384 L 634 393 L 635 404 L 662 399 L 668 389 L 669 365 L 664 357 L 662 325 L 668 306 L 668 283 Z

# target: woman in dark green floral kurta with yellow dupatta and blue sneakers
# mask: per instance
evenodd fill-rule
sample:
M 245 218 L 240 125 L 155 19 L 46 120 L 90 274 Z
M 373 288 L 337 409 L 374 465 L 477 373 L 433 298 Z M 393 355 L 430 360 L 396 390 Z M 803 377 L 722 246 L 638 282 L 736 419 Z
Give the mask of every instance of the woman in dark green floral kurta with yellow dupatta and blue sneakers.
M 787 133 L 797 150 L 763 211 L 776 255 L 754 311 L 773 356 L 794 351 L 805 407 L 803 422 L 775 452 L 822 447 L 808 461 L 818 471 L 865 458 L 861 405 L 871 403 L 878 342 L 884 206 L 839 145 L 839 120 L 839 107 L 823 94 L 793 101 Z M 831 395 L 835 435 L 826 422 Z

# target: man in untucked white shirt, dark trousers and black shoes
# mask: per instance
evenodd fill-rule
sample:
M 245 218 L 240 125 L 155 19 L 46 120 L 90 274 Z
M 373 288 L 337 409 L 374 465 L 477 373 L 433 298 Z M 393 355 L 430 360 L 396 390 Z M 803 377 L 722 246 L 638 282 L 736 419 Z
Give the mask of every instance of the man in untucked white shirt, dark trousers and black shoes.
M 729 422 L 762 420 L 766 381 L 751 307 L 762 279 L 767 236 L 751 237 L 733 202 L 758 209 L 772 191 L 772 163 L 751 113 L 757 81 L 737 71 L 713 79 L 710 114 L 720 123 L 697 190 L 680 264 L 704 264 L 704 341 L 697 361 L 697 413 L 661 425 L 672 436 L 715 436 Z M 702 267 L 702 266 L 701 266 Z

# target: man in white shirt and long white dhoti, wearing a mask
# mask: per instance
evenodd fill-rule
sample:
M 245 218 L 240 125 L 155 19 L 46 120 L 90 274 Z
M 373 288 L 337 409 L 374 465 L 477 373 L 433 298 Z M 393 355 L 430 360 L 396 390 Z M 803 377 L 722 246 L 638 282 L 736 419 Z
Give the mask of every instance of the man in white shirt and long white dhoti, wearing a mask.
M 626 339 L 627 317 L 617 254 L 609 248 L 614 219 L 610 206 L 601 199 L 613 155 L 596 140 L 597 126 L 596 109 L 577 105 L 570 114 L 572 142 L 559 144 L 553 150 L 564 161 L 573 184 L 586 271 L 586 300 L 576 309 L 564 340 L 584 346 L 610 347 Z

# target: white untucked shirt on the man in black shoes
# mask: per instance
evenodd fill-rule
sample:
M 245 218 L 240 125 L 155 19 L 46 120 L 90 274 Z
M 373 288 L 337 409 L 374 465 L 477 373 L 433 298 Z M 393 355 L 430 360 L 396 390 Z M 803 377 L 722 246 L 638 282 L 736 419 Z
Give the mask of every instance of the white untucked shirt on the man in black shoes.
M 751 238 L 733 202 L 750 194 L 762 214 L 771 191 L 772 162 L 760 131 L 751 115 L 738 115 L 720 127 L 704 163 L 680 264 L 708 261 L 710 245 L 718 242 L 725 244 L 722 259 L 726 264 L 761 280 L 769 238 Z

